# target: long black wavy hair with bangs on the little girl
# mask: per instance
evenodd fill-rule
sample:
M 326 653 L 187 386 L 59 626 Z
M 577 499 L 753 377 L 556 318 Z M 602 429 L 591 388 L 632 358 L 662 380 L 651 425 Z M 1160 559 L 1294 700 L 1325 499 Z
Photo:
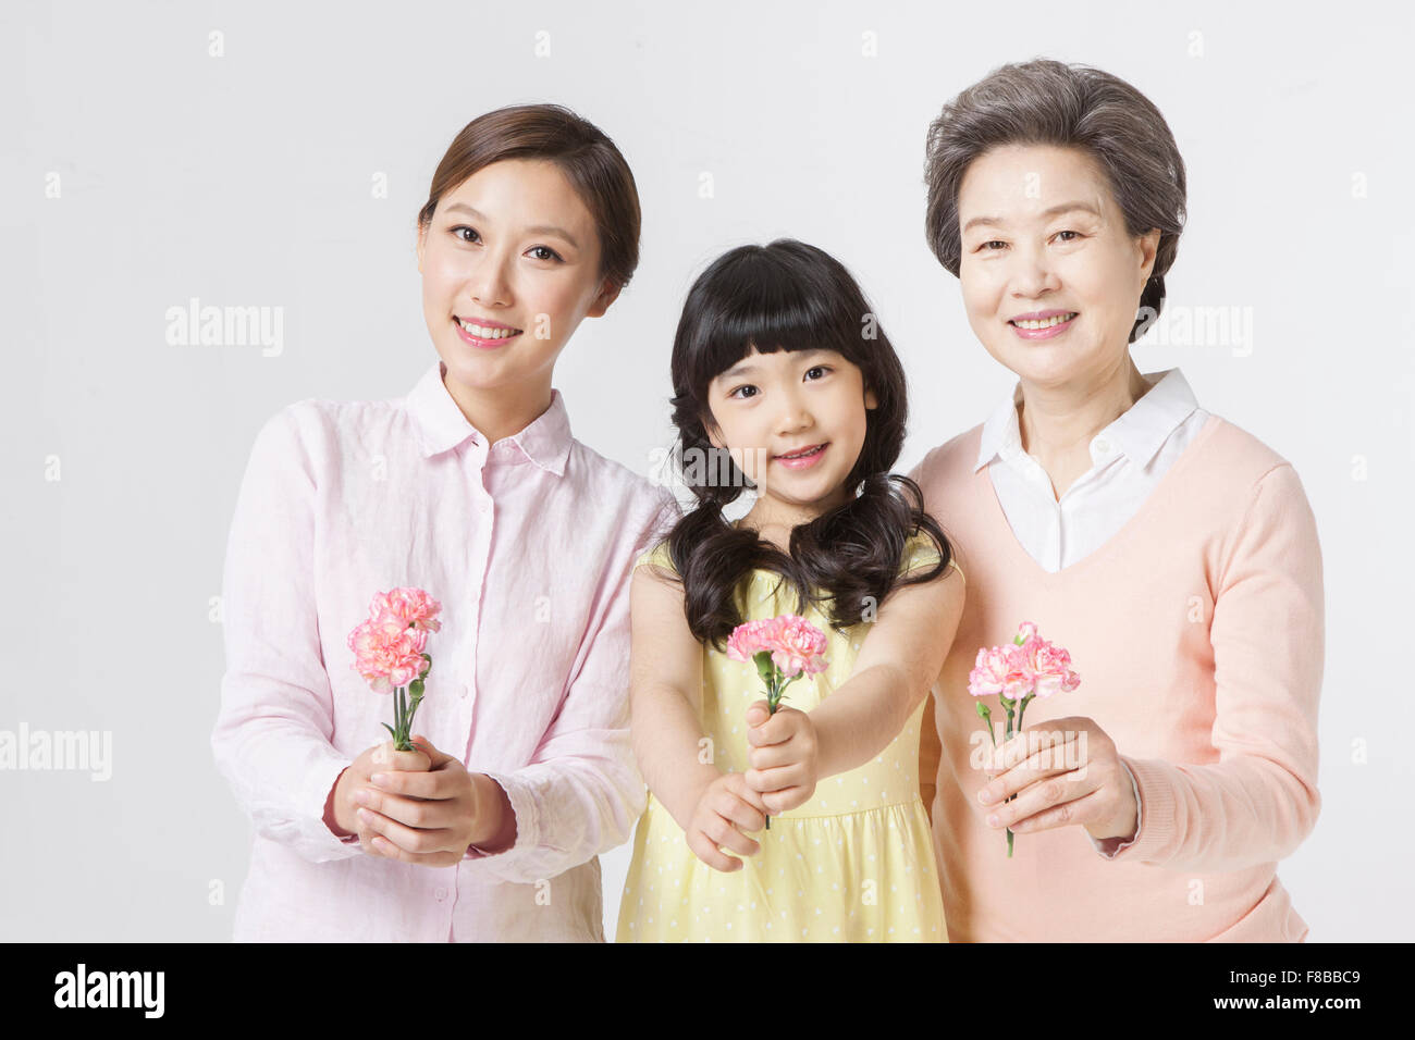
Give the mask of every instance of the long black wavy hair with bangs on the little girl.
M 724 451 L 716 451 L 705 419 L 708 388 L 753 348 L 832 349 L 856 365 L 877 406 L 866 410 L 865 444 L 846 477 L 857 491 L 843 505 L 791 531 L 790 555 L 750 529 L 733 528 L 723 507 L 749 484 Z M 674 337 L 674 424 L 679 468 L 698 507 L 668 535 L 668 552 L 683 584 L 688 625 L 699 642 L 722 649 L 739 617 L 734 594 L 753 570 L 771 570 L 797 593 L 797 613 L 819 603 L 841 630 L 857 624 L 867 604 L 883 604 L 896 584 L 931 582 L 952 548 L 924 511 L 908 477 L 890 473 L 904 446 L 908 415 L 904 366 L 845 266 L 795 239 L 746 245 L 719 256 L 693 282 Z M 715 458 L 706 471 L 683 460 Z M 703 478 L 706 473 L 706 480 Z M 726 477 L 726 478 L 724 478 Z M 941 560 L 904 577 L 906 542 L 925 533 Z M 780 587 L 780 586 L 778 586 Z

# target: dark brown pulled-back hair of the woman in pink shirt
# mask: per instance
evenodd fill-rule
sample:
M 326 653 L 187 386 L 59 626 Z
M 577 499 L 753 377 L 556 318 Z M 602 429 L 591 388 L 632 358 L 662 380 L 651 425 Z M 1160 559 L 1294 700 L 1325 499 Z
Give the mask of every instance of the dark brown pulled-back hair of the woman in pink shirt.
M 417 224 L 432 224 L 439 200 L 474 173 L 505 158 L 555 163 L 594 218 L 601 279 L 620 289 L 638 267 L 638 188 L 614 141 L 560 105 L 509 105 L 477 116 L 437 164 Z

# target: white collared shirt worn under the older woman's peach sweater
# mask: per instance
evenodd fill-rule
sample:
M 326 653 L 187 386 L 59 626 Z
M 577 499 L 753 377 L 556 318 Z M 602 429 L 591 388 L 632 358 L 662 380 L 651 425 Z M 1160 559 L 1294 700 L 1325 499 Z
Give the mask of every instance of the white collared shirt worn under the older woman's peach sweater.
M 988 467 L 1012 533 L 1043 570 L 1070 567 L 1105 545 L 1208 420 L 1177 368 L 1145 375 L 1145 381 L 1150 385 L 1145 396 L 1091 439 L 1091 468 L 1060 499 L 1041 463 L 1022 450 L 1020 381 L 983 423 L 974 471 Z M 1138 835 L 1142 807 L 1133 775 L 1131 790 Z M 1092 838 L 1091 843 L 1107 857 L 1131 845 L 1116 838 Z

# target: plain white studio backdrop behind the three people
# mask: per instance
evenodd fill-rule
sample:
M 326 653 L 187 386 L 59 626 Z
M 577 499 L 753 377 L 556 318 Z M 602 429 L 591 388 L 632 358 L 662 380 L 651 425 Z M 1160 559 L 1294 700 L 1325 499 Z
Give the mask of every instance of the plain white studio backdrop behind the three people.
M 907 471 L 1013 383 L 924 243 L 924 133 L 1033 57 L 1155 100 L 1189 168 L 1170 306 L 1251 308 L 1251 352 L 1142 341 L 1136 364 L 1180 365 L 1302 477 L 1326 566 L 1323 809 L 1279 876 L 1312 941 L 1411 938 L 1405 10 L 6 3 L 0 729 L 108 730 L 113 775 L 0 771 L 0 940 L 229 937 L 250 829 L 208 743 L 208 604 L 241 474 L 282 406 L 398 396 L 433 361 L 415 215 L 470 119 L 560 102 L 634 170 L 641 266 L 556 372 L 576 437 L 647 473 L 688 284 L 794 236 L 856 275 L 904 361 Z M 191 297 L 282 307 L 282 354 L 170 345 Z M 613 937 L 628 846 L 603 862 Z

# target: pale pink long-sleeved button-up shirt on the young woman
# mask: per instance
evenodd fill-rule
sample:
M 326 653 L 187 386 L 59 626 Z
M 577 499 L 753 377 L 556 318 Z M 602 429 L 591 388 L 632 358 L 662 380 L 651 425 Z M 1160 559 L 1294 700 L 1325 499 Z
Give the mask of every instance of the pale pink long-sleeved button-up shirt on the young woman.
M 219 771 L 255 825 L 236 941 L 603 941 L 599 853 L 644 782 L 628 734 L 628 579 L 674 497 L 570 436 L 565 402 L 488 444 L 439 361 L 403 398 L 301 400 L 256 436 L 226 549 Z M 351 668 L 375 591 L 441 603 L 413 729 L 492 777 L 512 848 L 426 867 L 324 822 L 388 739 Z

